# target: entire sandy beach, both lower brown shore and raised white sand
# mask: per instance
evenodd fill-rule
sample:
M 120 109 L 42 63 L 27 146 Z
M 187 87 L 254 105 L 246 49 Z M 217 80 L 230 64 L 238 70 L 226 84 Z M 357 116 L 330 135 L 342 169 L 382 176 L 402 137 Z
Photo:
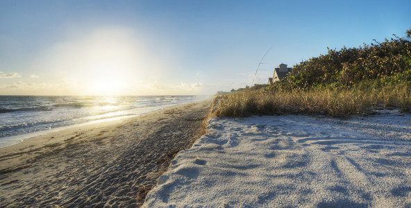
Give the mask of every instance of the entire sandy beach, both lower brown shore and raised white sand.
M 210 103 L 0 148 L 0 207 L 411 205 L 411 114 L 208 118 Z

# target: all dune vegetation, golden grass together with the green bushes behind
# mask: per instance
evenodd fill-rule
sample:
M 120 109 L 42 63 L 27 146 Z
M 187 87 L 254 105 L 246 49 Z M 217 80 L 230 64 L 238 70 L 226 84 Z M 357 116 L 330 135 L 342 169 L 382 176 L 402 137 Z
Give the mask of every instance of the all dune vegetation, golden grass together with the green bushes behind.
M 408 33 L 408 32 L 407 32 Z M 410 37 L 385 39 L 328 53 L 294 65 L 267 87 L 219 94 L 215 116 L 251 114 L 370 114 L 387 107 L 411 112 Z

